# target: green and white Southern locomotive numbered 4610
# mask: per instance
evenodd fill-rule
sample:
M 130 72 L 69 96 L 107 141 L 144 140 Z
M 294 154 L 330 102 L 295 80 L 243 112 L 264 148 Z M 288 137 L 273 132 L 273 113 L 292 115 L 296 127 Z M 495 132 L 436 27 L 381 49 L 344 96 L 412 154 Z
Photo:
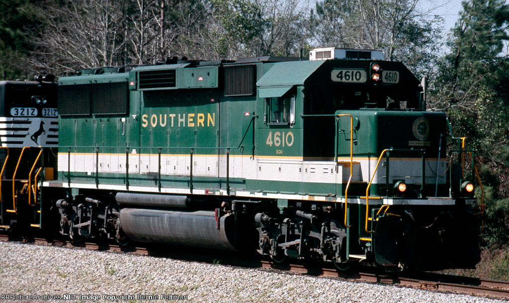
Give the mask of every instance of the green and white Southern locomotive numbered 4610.
M 374 50 L 81 70 L 59 80 L 42 227 L 56 206 L 75 240 L 472 268 L 469 152 L 446 151 L 446 116 L 426 112 L 425 93 Z

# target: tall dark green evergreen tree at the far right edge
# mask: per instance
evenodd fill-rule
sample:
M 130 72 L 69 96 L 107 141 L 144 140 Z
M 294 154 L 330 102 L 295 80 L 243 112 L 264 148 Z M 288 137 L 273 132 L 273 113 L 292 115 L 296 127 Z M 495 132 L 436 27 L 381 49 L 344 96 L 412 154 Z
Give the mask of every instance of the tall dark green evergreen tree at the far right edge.
M 445 111 L 465 133 L 485 185 L 486 239 L 509 234 L 509 61 L 501 53 L 509 37 L 509 8 L 503 0 L 469 0 L 448 41 L 450 53 L 438 66 L 431 107 Z M 504 228 L 500 228 L 504 226 Z M 498 237 L 496 235 L 499 235 Z M 492 241 L 490 240 L 490 241 Z

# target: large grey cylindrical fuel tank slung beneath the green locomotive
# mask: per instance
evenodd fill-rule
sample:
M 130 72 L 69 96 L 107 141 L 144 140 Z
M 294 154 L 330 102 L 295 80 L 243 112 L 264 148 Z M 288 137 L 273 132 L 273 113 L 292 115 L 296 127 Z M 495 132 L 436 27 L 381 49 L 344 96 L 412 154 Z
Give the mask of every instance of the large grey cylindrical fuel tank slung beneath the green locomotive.
M 124 208 L 120 225 L 134 241 L 236 250 L 235 218 L 214 211 Z

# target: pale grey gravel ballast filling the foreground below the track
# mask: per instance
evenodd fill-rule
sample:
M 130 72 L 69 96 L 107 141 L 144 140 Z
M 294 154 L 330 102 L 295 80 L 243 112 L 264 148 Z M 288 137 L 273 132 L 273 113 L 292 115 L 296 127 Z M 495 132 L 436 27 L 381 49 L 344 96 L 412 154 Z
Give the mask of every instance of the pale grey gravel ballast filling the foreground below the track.
M 75 297 L 50 297 L 69 294 Z M 220 264 L 0 242 L 0 302 L 11 301 L 504 302 Z

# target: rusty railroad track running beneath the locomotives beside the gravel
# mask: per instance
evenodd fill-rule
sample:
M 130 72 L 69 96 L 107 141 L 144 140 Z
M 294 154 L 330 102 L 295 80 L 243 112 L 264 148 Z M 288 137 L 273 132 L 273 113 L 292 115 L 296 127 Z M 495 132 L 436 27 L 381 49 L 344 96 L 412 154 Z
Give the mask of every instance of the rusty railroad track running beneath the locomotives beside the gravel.
M 306 264 L 285 264 L 267 261 L 258 256 L 258 258 L 246 258 L 245 255 L 239 256 L 235 253 L 216 252 L 215 254 L 201 254 L 188 250 L 172 250 L 161 246 L 120 246 L 108 242 L 81 242 L 74 243 L 63 239 L 46 239 L 18 237 L 9 238 L 8 235 L 0 234 L 0 241 L 13 241 L 23 243 L 33 243 L 38 245 L 70 247 L 78 249 L 108 251 L 116 253 L 131 253 L 137 255 L 150 255 L 171 257 L 180 260 L 200 261 L 207 263 L 221 263 L 223 265 L 262 268 L 265 270 L 276 270 L 281 272 L 291 272 L 297 274 L 309 274 L 315 277 L 340 278 L 350 281 L 378 283 L 386 285 L 400 285 L 417 289 L 426 289 L 440 292 L 459 293 L 468 295 L 477 295 L 495 299 L 509 299 L 509 282 L 478 279 L 471 277 L 451 276 L 448 274 L 439 274 L 424 272 L 405 276 L 404 274 L 381 273 L 376 267 L 361 266 L 358 271 L 338 271 L 335 268 L 323 267 L 323 263 Z

